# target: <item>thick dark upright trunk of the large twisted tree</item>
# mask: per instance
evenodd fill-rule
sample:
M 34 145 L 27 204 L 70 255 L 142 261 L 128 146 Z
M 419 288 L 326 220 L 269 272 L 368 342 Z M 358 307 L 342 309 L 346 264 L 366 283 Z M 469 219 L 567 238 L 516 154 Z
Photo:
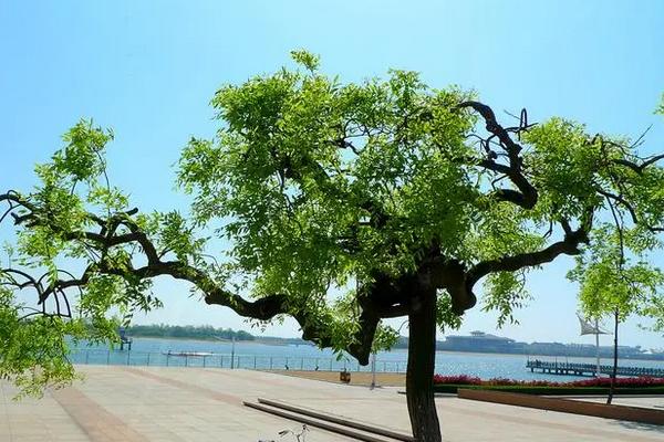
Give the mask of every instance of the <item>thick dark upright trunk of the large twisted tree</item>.
M 434 402 L 436 358 L 436 292 L 415 298 L 408 314 L 408 368 L 406 398 L 413 436 L 417 442 L 440 442 L 440 425 Z

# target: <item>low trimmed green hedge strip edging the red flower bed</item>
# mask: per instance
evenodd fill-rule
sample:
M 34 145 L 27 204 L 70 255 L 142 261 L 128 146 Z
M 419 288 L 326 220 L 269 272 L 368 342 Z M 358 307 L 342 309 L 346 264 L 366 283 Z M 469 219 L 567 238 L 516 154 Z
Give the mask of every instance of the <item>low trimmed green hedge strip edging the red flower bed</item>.
M 603 387 L 459 386 L 449 383 L 438 383 L 434 386 L 435 391 L 438 393 L 456 393 L 457 389 L 459 388 L 549 396 L 582 396 L 609 393 L 609 389 Z M 615 394 L 664 394 L 664 387 L 616 388 Z

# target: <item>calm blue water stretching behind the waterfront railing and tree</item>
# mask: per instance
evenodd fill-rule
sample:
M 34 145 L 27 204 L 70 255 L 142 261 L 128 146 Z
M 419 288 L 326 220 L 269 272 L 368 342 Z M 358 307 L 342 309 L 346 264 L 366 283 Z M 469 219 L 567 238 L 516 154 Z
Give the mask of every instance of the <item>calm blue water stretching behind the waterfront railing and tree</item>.
M 210 352 L 206 357 L 168 356 L 168 351 L 200 351 Z M 224 367 L 231 366 L 232 344 L 225 341 L 197 341 L 179 339 L 134 338 L 132 351 L 106 350 L 101 348 L 81 348 L 73 352 L 72 360 L 76 364 L 112 364 L 137 366 L 189 366 L 189 367 Z M 533 356 L 531 356 L 532 358 Z M 537 356 L 541 360 L 558 360 L 561 362 L 594 364 L 594 358 L 566 358 Z M 376 358 L 377 371 L 405 371 L 407 351 L 397 349 L 380 352 Z M 470 352 L 436 352 L 436 372 L 440 375 L 469 375 L 483 379 L 511 378 L 521 380 L 552 379 L 574 380 L 575 377 L 531 373 L 526 369 L 528 356 L 495 355 Z M 602 364 L 612 364 L 602 359 Z M 620 360 L 620 366 L 664 368 L 664 361 Z M 263 344 L 236 343 L 232 366 L 236 368 L 257 369 L 307 369 L 341 370 L 344 367 L 351 371 L 371 371 L 371 366 L 361 367 L 353 358 L 338 360 L 332 351 L 320 350 L 317 347 L 276 346 Z

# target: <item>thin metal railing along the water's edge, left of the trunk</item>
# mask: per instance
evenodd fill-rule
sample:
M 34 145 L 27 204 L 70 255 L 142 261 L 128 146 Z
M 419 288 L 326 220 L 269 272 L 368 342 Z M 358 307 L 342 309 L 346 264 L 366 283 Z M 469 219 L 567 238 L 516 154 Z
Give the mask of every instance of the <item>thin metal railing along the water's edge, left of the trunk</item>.
M 320 371 L 371 371 L 371 364 L 363 367 L 357 361 L 335 358 L 258 356 L 258 355 L 174 355 L 165 352 L 121 351 L 98 349 L 74 349 L 72 364 L 107 366 L 156 366 L 156 367 L 209 367 L 242 368 L 251 370 L 320 370 Z M 376 360 L 378 372 L 405 372 L 405 360 Z

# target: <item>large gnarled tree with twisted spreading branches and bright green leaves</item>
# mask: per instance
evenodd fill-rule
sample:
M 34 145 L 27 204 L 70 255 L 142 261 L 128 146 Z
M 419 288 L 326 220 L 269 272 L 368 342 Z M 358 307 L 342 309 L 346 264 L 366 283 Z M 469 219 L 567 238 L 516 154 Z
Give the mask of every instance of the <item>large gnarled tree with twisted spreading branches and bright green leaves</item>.
M 111 338 L 110 317 L 159 306 L 149 283 L 170 276 L 247 318 L 289 315 L 363 365 L 381 319 L 407 317 L 413 433 L 439 441 L 436 330 L 476 305 L 480 282 L 485 308 L 510 319 L 526 273 L 582 254 L 610 209 L 643 251 L 660 245 L 662 156 L 641 158 L 639 143 L 526 112 L 504 125 L 473 93 L 413 72 L 343 84 L 293 57 L 215 94 L 217 135 L 191 139 L 178 165 L 187 215 L 142 213 L 111 187 L 112 133 L 90 122 L 38 166 L 33 191 L 0 196 L 18 235 L 0 272 L 0 373 L 66 381 L 63 336 Z M 210 231 L 222 241 L 199 236 Z

